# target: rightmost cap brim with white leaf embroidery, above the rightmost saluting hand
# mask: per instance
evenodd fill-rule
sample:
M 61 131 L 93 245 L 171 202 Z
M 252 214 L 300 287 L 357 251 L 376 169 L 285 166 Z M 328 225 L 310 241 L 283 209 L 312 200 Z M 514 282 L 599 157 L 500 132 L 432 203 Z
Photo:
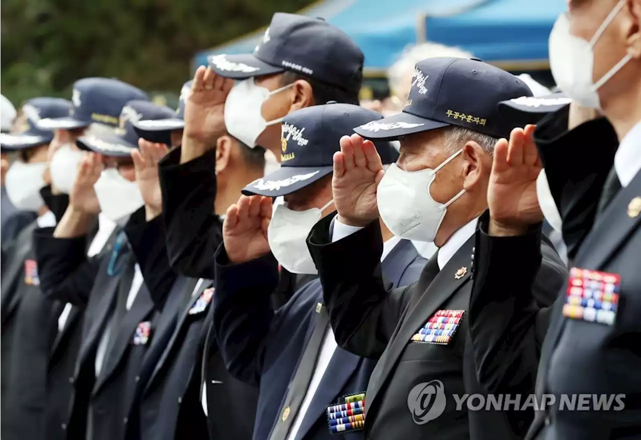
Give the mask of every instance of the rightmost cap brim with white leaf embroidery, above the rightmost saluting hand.
M 521 96 L 499 103 L 499 112 L 504 117 L 519 121 L 521 125 L 537 124 L 548 113 L 554 113 L 570 105 L 572 99 L 558 92 L 547 96 Z

